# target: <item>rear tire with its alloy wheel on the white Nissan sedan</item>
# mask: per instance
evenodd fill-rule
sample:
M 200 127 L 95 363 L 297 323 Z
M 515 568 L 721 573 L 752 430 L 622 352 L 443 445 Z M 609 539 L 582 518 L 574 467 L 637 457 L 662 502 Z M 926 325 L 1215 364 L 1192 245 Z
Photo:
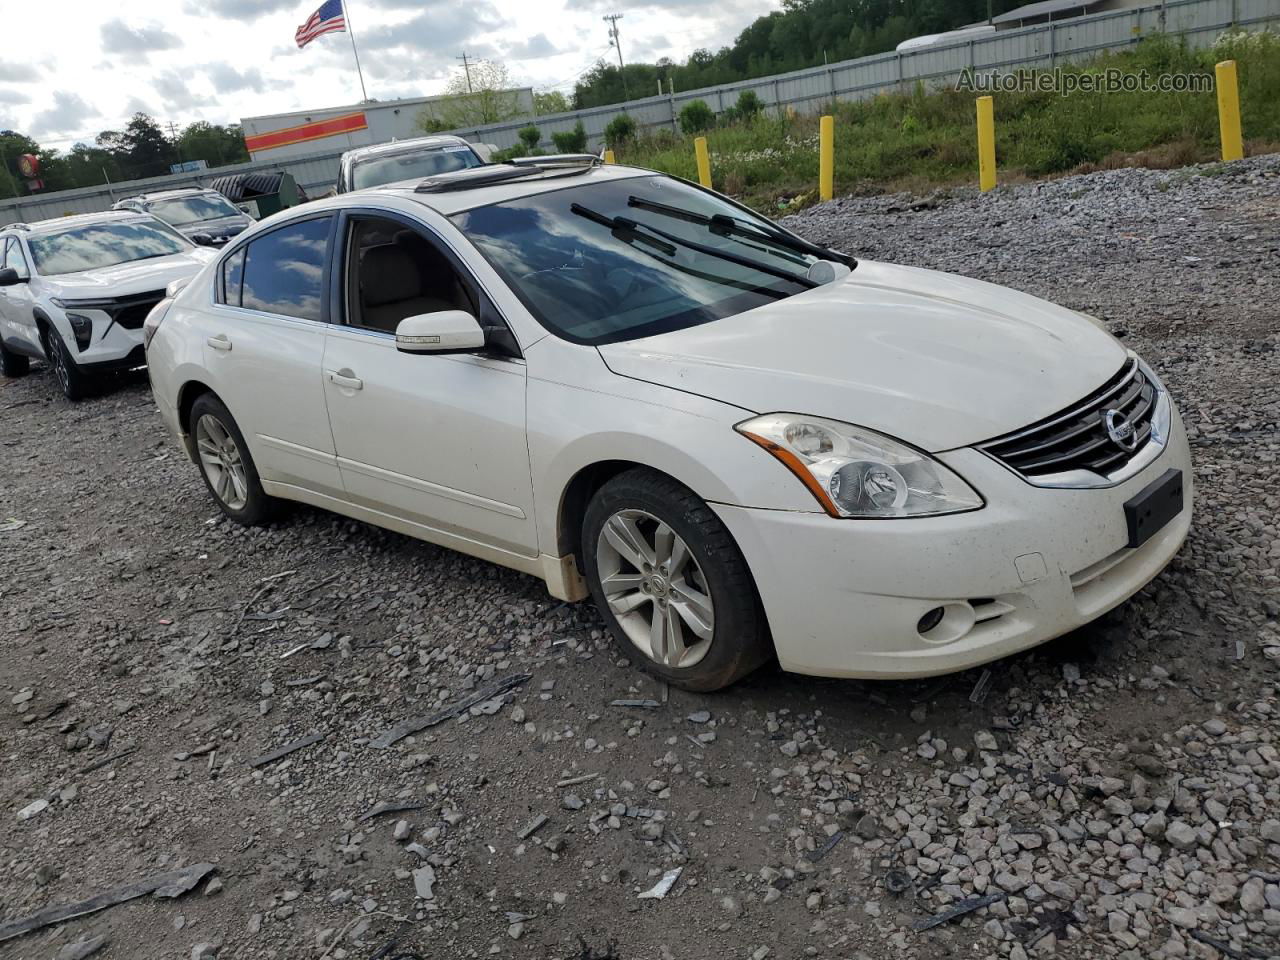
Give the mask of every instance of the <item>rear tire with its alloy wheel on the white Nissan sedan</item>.
M 276 516 L 279 502 L 262 489 L 244 434 L 220 399 L 211 393 L 197 397 L 187 433 L 200 475 L 223 513 L 243 526 Z

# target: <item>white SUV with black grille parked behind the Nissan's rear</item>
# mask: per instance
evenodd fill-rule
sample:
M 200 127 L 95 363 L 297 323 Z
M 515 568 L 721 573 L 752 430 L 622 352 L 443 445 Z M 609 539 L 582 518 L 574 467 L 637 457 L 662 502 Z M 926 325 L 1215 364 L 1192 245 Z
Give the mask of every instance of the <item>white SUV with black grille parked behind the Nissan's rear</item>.
M 147 214 L 0 227 L 0 367 L 47 360 L 68 399 L 97 374 L 142 366 L 142 321 L 215 256 Z

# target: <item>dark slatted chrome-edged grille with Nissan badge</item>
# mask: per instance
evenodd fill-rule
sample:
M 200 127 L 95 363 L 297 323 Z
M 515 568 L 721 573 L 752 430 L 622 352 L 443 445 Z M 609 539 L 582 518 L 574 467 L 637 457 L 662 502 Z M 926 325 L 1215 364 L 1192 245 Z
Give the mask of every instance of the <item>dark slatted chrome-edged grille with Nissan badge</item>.
M 1111 411 L 1132 426 L 1132 447 L 1110 435 L 1106 416 Z M 1029 479 L 1071 470 L 1106 476 L 1124 467 L 1151 439 L 1155 411 L 1156 385 L 1138 361 L 1130 360 L 1079 403 L 979 448 Z

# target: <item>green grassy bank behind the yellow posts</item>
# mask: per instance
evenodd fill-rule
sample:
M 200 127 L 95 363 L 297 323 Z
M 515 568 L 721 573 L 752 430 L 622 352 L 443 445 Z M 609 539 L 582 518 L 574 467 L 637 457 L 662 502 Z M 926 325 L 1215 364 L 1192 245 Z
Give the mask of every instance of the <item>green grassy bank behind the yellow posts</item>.
M 1164 35 L 1106 54 L 1075 72 L 1108 68 L 1149 76 L 1210 73 L 1234 59 L 1247 152 L 1280 142 L 1280 36 L 1231 32 L 1207 50 Z M 879 193 L 977 183 L 975 93 L 951 88 L 837 102 L 836 192 Z M 1219 156 L 1217 99 L 1207 93 L 995 93 L 996 156 L 1002 183 L 1065 173 L 1152 166 L 1172 169 Z M 759 115 L 708 134 L 717 189 L 762 210 L 817 198 L 818 118 Z M 691 137 L 669 132 L 618 145 L 618 163 L 698 178 Z

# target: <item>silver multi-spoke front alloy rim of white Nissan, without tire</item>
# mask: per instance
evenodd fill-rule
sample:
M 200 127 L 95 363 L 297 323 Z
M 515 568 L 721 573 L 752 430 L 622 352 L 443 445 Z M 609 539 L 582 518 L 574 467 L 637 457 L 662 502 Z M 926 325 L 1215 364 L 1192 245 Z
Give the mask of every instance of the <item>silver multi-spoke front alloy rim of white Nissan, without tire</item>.
M 605 521 L 595 549 L 609 611 L 627 639 L 664 667 L 692 667 L 710 650 L 716 607 L 689 545 L 643 509 Z

